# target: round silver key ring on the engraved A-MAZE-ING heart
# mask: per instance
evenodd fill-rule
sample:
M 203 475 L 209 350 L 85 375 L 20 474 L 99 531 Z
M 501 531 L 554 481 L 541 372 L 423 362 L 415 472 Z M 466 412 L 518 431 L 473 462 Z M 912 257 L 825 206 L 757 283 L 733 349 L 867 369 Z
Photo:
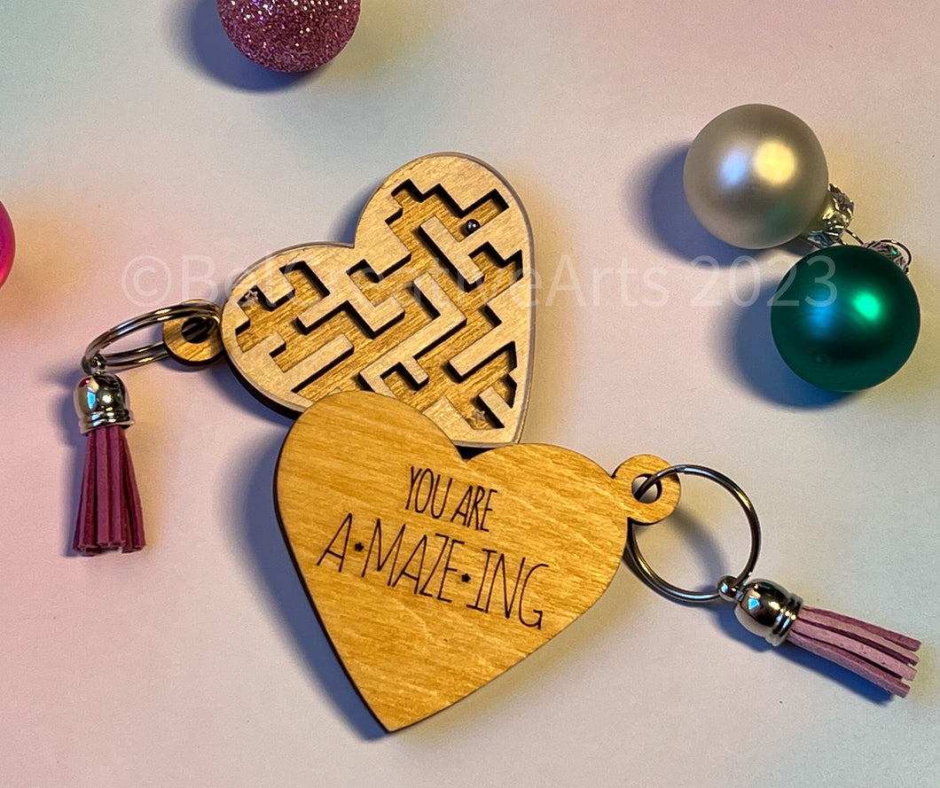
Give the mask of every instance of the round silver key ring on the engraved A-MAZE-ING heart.
M 734 496 L 734 499 L 744 510 L 744 517 L 747 518 L 747 524 L 751 530 L 751 550 L 750 554 L 747 556 L 747 563 L 744 564 L 744 569 L 737 576 L 732 578 L 733 585 L 740 586 L 744 582 L 744 579 L 754 571 L 754 566 L 757 564 L 758 555 L 760 554 L 760 520 L 758 519 L 758 513 L 754 508 L 754 504 L 751 503 L 751 500 L 741 487 L 738 487 L 738 485 L 724 473 L 714 471 L 712 468 L 707 468 L 703 465 L 670 465 L 668 468 L 664 468 L 662 471 L 657 471 L 651 476 L 646 477 L 642 484 L 636 487 L 634 491 L 635 497 L 642 499 L 652 487 L 658 485 L 667 476 L 677 476 L 680 473 L 702 476 L 724 487 Z M 640 578 L 649 584 L 654 591 L 658 591 L 660 594 L 680 602 L 712 602 L 720 597 L 717 588 L 714 591 L 689 591 L 680 586 L 673 585 L 657 575 L 643 557 L 643 553 L 640 552 L 639 545 L 636 542 L 636 526 L 640 524 L 641 523 L 635 523 L 633 520 L 627 521 L 627 553 L 630 555 Z M 723 579 L 723 582 L 725 580 L 728 580 L 728 578 Z

